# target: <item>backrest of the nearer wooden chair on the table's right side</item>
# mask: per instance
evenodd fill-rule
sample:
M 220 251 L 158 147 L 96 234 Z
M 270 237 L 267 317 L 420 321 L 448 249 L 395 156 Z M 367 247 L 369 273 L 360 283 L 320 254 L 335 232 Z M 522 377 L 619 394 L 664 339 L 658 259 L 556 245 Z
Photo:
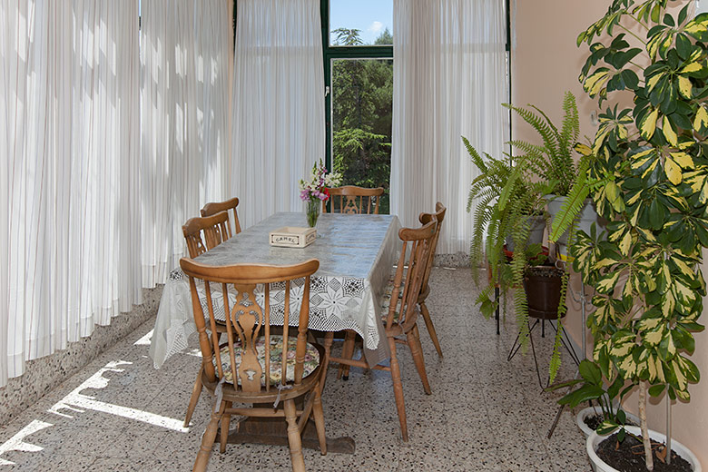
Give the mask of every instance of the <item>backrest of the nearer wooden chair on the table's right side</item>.
M 438 221 L 429 221 L 420 228 L 401 228 L 398 231 L 398 238 L 403 241 L 403 247 L 398 258 L 391 301 L 388 305 L 387 328 L 398 323 L 406 330 L 410 324 L 416 322 L 418 294 L 437 228 Z

